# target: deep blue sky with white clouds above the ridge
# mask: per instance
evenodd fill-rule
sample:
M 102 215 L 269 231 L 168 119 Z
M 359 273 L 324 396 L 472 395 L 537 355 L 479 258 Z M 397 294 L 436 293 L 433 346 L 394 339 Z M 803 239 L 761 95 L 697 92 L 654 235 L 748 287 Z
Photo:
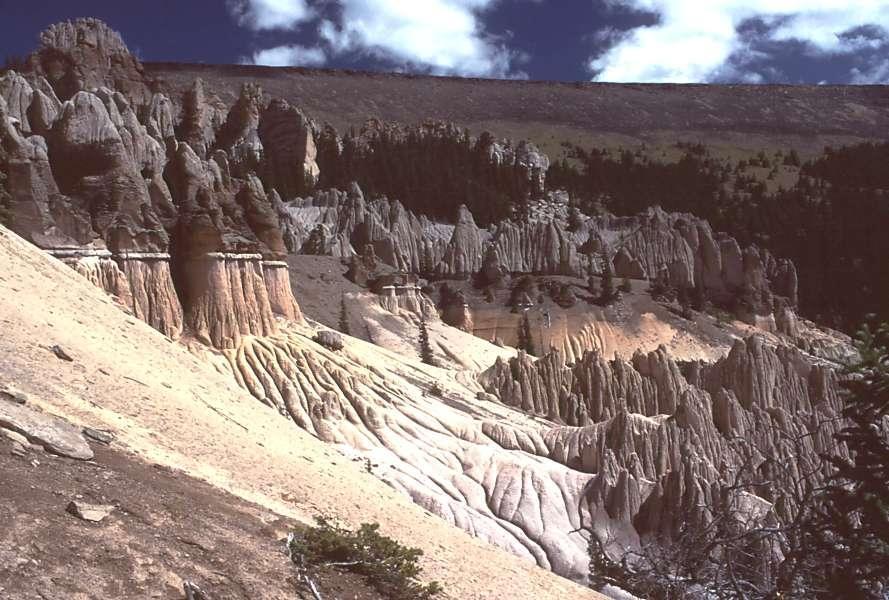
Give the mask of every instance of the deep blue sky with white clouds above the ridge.
M 0 0 L 0 58 L 99 17 L 143 61 L 558 81 L 889 83 L 889 0 Z

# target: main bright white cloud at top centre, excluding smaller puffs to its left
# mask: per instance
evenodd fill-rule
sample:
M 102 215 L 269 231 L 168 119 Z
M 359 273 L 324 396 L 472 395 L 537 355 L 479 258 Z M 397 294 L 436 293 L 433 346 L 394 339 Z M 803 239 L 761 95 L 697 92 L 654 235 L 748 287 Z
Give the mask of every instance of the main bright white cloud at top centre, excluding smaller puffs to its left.
M 517 55 L 486 35 L 479 15 L 497 0 L 338 0 L 339 24 L 319 33 L 337 53 L 361 51 L 438 75 L 514 75 Z

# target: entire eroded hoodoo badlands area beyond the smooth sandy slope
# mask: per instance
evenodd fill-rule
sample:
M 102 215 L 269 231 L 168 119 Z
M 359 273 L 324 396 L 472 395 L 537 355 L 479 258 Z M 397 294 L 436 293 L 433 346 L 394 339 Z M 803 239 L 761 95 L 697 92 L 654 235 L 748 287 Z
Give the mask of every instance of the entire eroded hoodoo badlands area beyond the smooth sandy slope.
M 790 261 L 690 214 L 572 214 L 566 192 L 545 191 L 549 159 L 527 142 L 375 120 L 340 137 L 255 84 L 228 106 L 200 80 L 181 97 L 153 83 L 98 21 L 44 33 L 26 68 L 0 78 L 9 228 L 168 337 L 212 347 L 190 344 L 282 418 L 366 460 L 430 512 L 583 581 L 591 534 L 618 556 L 682 521 L 706 521 L 704 508 L 750 457 L 782 465 L 769 489 L 747 498 L 769 518 L 789 516 L 792 482 L 822 476 L 808 473 L 840 427 L 837 375 L 801 349 L 814 353 L 823 340 L 794 314 Z M 419 194 L 369 191 L 392 181 L 336 181 L 349 161 L 372 172 L 381 140 L 411 160 L 452 156 L 453 164 L 426 165 L 436 181 L 475 178 L 484 193 L 449 197 L 444 219 Z M 398 189 L 416 189 L 416 173 L 401 171 Z M 311 258 L 328 261 L 330 280 L 352 286 L 322 302 L 342 307 L 343 333 L 357 325 L 362 333 L 333 348 L 313 341 L 325 330 L 320 318 L 303 320 L 293 295 L 294 259 L 308 258 L 295 254 L 320 255 Z M 756 328 L 768 336 L 736 336 L 712 362 L 680 363 L 666 348 L 608 360 L 609 328 L 642 330 L 656 318 L 650 297 L 644 314 L 628 315 L 635 305 L 612 309 L 613 297 L 594 293 L 615 277 L 627 278 L 627 295 L 639 295 L 630 279 L 649 280 L 737 308 L 746 324 L 720 329 L 722 341 Z M 439 280 L 438 307 L 425 279 Z M 463 295 L 470 285 L 490 295 L 492 312 L 511 311 L 506 325 L 473 314 Z M 554 300 L 546 306 L 584 302 L 585 320 L 541 309 L 545 290 Z M 581 291 L 589 297 L 578 299 Z M 494 306 L 495 292 L 515 293 L 507 310 Z M 549 333 L 531 341 L 561 351 L 540 347 L 535 359 L 464 333 L 486 320 L 490 331 L 479 337 L 495 341 L 504 327 L 530 328 L 532 309 L 534 327 Z M 432 346 L 424 356 L 444 357 L 443 366 L 418 360 L 414 336 L 427 320 L 448 341 L 424 338 Z M 685 320 L 680 333 L 692 338 Z M 368 343 L 387 336 L 396 350 Z

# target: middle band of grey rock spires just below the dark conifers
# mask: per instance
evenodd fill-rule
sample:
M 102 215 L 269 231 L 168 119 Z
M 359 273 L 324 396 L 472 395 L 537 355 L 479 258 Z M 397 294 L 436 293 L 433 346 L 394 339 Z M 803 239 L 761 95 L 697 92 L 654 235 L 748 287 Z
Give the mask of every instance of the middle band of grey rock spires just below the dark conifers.
M 700 286 L 714 300 L 749 301 L 750 319 L 772 315 L 770 327 L 792 329 L 783 314 L 796 302 L 793 263 L 756 247 L 741 249 L 730 237 L 712 232 L 706 221 L 688 214 L 651 209 L 635 217 L 585 217 L 569 231 L 564 197 L 532 207 L 526 222 L 505 220 L 488 229 L 476 226 L 461 207 L 455 225 L 417 217 L 399 202 L 367 201 L 357 186 L 345 194 L 317 192 L 283 204 L 281 219 L 291 251 L 348 256 L 365 244 L 397 269 L 468 278 L 479 271 L 485 283 L 507 273 L 587 276 L 602 273 L 602 257 L 618 278 L 665 278 L 676 288 Z M 784 304 L 776 304 L 776 297 Z M 775 319 L 783 325 L 775 323 Z M 782 320 L 783 319 L 783 320 Z

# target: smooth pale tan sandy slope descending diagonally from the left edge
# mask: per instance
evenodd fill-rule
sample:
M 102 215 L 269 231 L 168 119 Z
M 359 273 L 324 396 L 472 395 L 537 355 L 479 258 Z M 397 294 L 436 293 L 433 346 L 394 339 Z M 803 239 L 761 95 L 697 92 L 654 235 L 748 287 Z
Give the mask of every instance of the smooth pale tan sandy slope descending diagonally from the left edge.
M 0 379 L 34 404 L 281 514 L 378 521 L 455 598 L 599 597 L 426 513 L 2 227 L 0 332 Z

